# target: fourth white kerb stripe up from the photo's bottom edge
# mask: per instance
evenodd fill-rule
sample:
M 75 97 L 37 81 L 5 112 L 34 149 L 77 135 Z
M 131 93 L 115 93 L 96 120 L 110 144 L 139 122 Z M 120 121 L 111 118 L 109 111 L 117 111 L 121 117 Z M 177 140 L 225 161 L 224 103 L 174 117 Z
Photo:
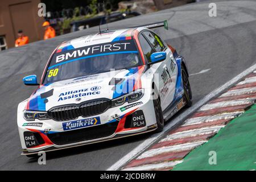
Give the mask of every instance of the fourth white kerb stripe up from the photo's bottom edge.
M 206 123 L 206 122 L 218 121 L 220 119 L 233 119 L 242 113 L 243 111 L 238 111 L 234 113 L 224 113 L 224 114 L 209 115 L 204 117 L 189 118 L 181 126 L 197 125 L 197 124 Z

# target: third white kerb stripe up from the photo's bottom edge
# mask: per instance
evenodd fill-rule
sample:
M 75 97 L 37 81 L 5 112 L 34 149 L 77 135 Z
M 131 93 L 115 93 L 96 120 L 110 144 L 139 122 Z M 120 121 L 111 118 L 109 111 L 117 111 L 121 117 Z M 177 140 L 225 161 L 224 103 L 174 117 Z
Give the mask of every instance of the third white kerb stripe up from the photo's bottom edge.
M 166 142 L 166 141 L 170 141 L 170 140 L 174 140 L 174 139 L 187 138 L 187 137 L 196 137 L 196 136 L 200 136 L 200 135 L 208 135 L 208 134 L 218 132 L 224 126 L 225 125 L 204 127 L 201 129 L 194 129 L 194 130 L 188 130 L 188 131 L 181 131 L 181 132 L 177 132 L 177 133 L 174 133 L 171 135 L 167 135 L 167 137 L 160 140 L 160 142 Z

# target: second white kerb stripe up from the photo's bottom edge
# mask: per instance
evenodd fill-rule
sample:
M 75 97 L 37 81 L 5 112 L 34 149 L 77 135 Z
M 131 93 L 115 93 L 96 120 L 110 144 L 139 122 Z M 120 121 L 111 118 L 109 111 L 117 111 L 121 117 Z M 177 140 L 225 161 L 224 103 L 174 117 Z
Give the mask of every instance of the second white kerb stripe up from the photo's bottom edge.
M 150 158 L 152 156 L 168 153 L 168 152 L 180 152 L 185 150 L 192 150 L 193 148 L 200 146 L 201 144 L 207 142 L 207 140 L 202 140 L 199 142 L 191 142 L 191 143 L 183 143 L 177 144 L 175 146 L 168 146 L 168 147 L 161 147 L 161 148 L 154 148 L 151 150 L 147 150 L 146 152 L 142 153 L 137 159 L 144 159 Z

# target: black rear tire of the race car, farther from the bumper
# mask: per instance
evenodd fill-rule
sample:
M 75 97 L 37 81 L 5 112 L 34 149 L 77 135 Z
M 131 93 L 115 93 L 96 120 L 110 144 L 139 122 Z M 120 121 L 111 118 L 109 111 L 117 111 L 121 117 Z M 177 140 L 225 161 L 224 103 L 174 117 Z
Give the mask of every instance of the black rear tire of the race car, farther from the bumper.
M 188 75 L 185 71 L 185 68 L 181 66 L 181 76 L 182 76 L 182 82 L 184 86 L 184 98 L 186 101 L 185 107 L 192 106 L 192 92 L 191 92 L 191 86 L 189 84 Z

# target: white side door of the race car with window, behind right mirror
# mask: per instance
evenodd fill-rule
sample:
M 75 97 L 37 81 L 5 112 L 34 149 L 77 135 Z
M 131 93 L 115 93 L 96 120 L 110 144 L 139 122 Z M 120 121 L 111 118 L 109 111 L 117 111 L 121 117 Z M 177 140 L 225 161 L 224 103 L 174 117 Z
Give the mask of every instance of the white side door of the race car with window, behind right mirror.
M 162 109 L 166 109 L 171 102 L 174 100 L 175 96 L 175 85 L 177 79 L 177 65 L 172 55 L 171 50 L 166 46 L 162 39 L 151 31 L 144 31 L 142 33 L 151 47 L 154 48 L 155 52 L 166 52 L 166 59 L 163 61 L 161 67 L 159 67 L 161 81 L 161 89 L 159 90 L 159 95 L 161 98 Z

